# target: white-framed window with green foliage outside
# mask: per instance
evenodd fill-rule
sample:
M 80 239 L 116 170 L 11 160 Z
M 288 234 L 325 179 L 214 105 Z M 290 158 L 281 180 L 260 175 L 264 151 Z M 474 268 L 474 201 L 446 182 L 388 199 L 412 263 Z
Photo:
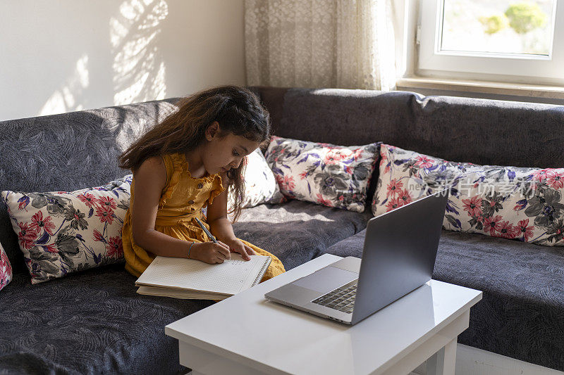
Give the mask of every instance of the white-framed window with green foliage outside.
M 564 0 L 421 0 L 419 9 L 419 75 L 564 84 Z

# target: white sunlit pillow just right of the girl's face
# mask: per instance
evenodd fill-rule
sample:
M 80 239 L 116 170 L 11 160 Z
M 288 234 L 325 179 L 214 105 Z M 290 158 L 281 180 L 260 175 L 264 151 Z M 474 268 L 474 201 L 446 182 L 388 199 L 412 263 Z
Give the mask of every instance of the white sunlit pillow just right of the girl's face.
M 245 180 L 243 208 L 255 207 L 255 205 L 262 203 L 282 203 L 286 200 L 259 148 L 247 156 L 246 163 L 243 176 Z M 234 197 L 230 194 L 228 198 L 229 210 L 233 208 L 234 203 Z

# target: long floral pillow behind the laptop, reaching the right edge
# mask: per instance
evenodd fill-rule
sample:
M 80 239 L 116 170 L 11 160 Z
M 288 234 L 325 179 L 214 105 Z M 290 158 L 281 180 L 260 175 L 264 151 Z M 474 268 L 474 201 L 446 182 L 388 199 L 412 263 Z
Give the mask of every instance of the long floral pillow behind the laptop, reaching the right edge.
M 564 246 L 564 168 L 453 163 L 382 144 L 372 213 L 450 189 L 443 227 Z

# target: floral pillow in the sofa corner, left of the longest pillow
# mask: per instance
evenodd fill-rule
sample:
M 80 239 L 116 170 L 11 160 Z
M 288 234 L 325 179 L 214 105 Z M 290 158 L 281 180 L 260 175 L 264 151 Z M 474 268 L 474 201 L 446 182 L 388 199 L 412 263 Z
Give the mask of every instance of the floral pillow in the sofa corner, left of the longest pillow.
M 364 212 L 378 144 L 336 146 L 273 136 L 266 150 L 288 198 Z

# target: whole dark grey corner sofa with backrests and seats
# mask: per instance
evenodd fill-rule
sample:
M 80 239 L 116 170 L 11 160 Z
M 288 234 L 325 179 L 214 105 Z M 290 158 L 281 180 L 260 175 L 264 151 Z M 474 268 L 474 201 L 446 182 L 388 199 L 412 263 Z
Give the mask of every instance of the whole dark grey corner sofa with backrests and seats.
M 564 167 L 563 106 L 407 91 L 252 89 L 278 136 L 342 145 L 383 141 L 477 164 Z M 123 177 L 119 153 L 175 101 L 0 122 L 0 190 L 75 190 Z M 323 253 L 360 256 L 370 217 L 289 201 L 245 210 L 234 229 L 291 269 Z M 137 295 L 123 265 L 32 285 L 2 206 L 0 243 L 14 269 L 0 291 L 0 374 L 183 369 L 164 326 L 211 302 Z M 484 291 L 460 343 L 564 370 L 564 248 L 443 231 L 434 278 Z

